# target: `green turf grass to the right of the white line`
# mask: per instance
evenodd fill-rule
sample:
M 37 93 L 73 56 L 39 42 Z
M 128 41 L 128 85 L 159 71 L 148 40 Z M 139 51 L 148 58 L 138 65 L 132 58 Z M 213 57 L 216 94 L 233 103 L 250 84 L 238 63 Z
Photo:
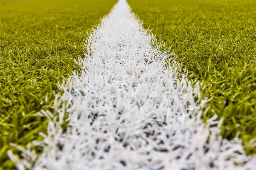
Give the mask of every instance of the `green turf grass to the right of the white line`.
M 212 100 L 203 119 L 224 118 L 221 134 L 237 134 L 256 153 L 256 1 L 128 0 L 159 41 L 177 55 Z

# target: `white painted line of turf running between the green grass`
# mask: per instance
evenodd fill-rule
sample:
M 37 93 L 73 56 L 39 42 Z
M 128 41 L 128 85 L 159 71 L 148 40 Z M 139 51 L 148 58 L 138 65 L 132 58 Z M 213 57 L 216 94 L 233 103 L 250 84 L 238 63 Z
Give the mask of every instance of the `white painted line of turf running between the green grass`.
M 216 116 L 205 124 L 199 82 L 179 74 L 173 57 L 153 48 L 125 0 L 113 7 L 87 41 L 81 71 L 62 83 L 49 111 L 44 153 L 31 150 L 18 168 L 29 169 L 244 169 L 256 165 L 241 141 L 222 139 Z M 172 64 L 172 66 L 171 66 Z M 67 130 L 62 129 L 68 122 Z M 215 125 L 215 126 L 214 126 Z M 212 127 L 213 126 L 213 127 Z M 38 143 L 37 143 L 38 144 Z M 42 143 L 39 143 L 40 145 Z M 32 163 L 35 164 L 32 165 Z M 235 166 L 235 163 L 238 164 Z

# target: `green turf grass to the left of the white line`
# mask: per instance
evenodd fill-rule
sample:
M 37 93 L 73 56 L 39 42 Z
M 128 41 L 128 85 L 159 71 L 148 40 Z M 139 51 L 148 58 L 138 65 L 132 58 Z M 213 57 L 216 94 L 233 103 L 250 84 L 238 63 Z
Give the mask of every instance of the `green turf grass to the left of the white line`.
M 46 132 L 56 83 L 79 69 L 87 31 L 117 0 L 0 2 L 0 169 L 13 169 L 9 142 L 26 146 Z

